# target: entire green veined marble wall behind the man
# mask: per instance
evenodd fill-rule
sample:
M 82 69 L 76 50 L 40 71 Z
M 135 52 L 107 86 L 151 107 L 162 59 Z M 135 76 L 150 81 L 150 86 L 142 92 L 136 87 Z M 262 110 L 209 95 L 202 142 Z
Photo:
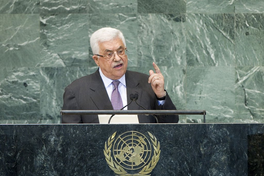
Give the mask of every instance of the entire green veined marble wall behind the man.
M 97 69 L 89 37 L 105 26 L 123 31 L 130 70 L 160 66 L 178 110 L 264 122 L 263 0 L 1 0 L 0 123 L 59 123 L 65 86 Z

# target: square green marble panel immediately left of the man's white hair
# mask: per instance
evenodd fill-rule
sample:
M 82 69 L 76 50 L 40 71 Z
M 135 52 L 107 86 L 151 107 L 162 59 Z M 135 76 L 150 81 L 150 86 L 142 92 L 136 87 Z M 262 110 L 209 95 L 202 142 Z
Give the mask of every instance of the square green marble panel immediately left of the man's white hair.
M 89 14 L 41 15 L 38 66 L 88 66 Z

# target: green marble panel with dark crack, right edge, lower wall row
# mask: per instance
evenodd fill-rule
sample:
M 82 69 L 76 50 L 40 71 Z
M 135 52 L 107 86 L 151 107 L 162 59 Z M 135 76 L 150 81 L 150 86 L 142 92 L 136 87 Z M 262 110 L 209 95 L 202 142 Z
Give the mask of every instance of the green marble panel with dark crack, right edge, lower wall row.
M 264 66 L 237 67 L 235 102 L 238 122 L 264 121 Z

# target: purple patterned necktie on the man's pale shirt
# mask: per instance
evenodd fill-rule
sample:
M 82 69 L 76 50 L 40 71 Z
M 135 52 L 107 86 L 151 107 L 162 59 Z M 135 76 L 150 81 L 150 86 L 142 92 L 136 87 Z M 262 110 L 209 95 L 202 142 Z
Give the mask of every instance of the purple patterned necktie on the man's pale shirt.
M 114 85 L 114 90 L 111 95 L 111 103 L 112 103 L 114 110 L 120 110 L 123 107 L 122 98 L 118 91 L 119 83 L 120 83 L 119 80 L 114 80 L 112 82 L 112 84 Z

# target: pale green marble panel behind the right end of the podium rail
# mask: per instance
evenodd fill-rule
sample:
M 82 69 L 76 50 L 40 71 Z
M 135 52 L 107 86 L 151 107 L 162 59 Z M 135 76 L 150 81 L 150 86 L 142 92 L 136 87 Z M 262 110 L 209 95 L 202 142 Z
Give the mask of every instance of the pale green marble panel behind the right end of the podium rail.
M 234 68 L 230 66 L 187 67 L 187 109 L 206 110 L 206 123 L 229 123 L 235 118 Z M 201 123 L 202 116 L 188 116 Z

